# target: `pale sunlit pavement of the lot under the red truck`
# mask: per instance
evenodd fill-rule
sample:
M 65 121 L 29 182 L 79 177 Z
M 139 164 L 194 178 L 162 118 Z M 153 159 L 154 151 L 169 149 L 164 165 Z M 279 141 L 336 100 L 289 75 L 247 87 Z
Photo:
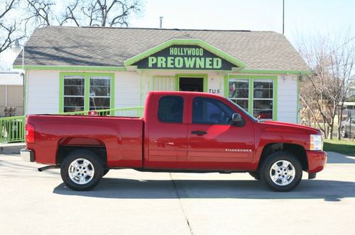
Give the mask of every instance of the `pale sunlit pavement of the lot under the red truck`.
M 110 171 L 92 191 L 0 155 L 0 234 L 355 234 L 355 157 L 274 193 L 247 173 Z M 307 178 L 304 173 L 303 178 Z

